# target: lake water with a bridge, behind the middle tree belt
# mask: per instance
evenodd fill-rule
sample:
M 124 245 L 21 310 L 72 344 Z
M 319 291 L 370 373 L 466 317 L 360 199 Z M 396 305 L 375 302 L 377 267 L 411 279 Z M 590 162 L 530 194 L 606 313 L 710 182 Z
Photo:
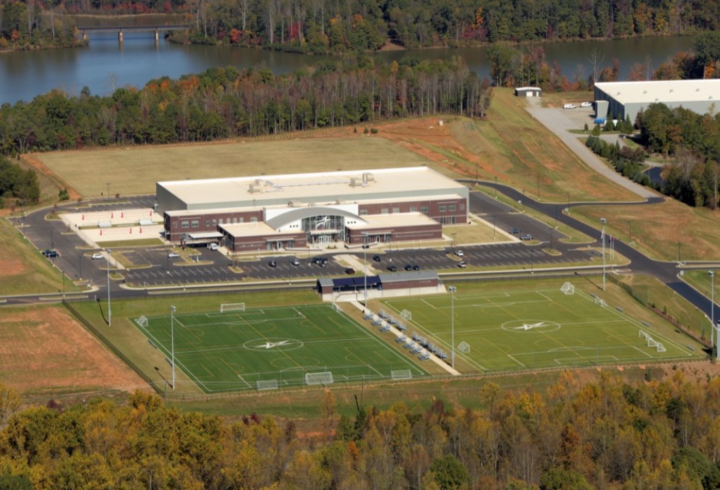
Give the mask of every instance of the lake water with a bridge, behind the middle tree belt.
M 107 95 L 120 86 L 144 86 L 153 78 L 179 78 L 207 68 L 233 65 L 237 68 L 266 66 L 274 73 L 289 73 L 332 56 L 310 56 L 279 53 L 243 47 L 177 45 L 161 39 L 155 42 L 152 32 L 125 32 L 120 44 L 117 34 L 92 34 L 88 47 L 59 50 L 0 53 L 0 104 L 29 101 L 38 94 L 62 89 L 77 95 L 84 86 L 92 94 Z M 591 72 L 590 55 L 598 50 L 603 65 L 618 58 L 621 79 L 628 76 L 633 63 L 657 68 L 678 51 L 690 50 L 693 37 L 644 37 L 629 40 L 551 42 L 542 46 L 549 62 L 557 61 L 562 73 L 571 79 L 576 72 L 585 78 Z M 489 76 L 487 47 L 455 49 L 398 50 L 377 53 L 381 60 L 415 57 L 420 60 L 459 56 L 480 76 Z

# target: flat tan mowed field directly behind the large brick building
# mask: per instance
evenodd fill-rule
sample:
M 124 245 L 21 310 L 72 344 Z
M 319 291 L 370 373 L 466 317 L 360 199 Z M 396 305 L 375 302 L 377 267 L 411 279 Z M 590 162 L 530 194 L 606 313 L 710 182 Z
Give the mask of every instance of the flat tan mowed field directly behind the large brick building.
M 108 148 L 33 155 L 85 198 L 154 194 L 158 181 L 424 165 L 376 135 Z

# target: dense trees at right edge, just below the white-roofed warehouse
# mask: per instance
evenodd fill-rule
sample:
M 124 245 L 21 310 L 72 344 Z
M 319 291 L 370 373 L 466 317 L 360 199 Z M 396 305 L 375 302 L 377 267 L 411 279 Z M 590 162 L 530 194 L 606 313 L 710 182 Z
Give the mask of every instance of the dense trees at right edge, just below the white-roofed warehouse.
M 720 188 L 720 114 L 697 114 L 650 104 L 636 125 L 642 143 L 674 161 L 665 165 L 663 194 L 690 206 L 715 209 Z

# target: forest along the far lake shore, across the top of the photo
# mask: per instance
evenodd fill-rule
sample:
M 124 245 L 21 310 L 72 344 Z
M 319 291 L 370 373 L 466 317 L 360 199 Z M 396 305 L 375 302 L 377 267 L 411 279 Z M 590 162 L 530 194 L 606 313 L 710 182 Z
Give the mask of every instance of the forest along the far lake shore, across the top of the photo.
M 58 30 L 62 14 L 184 13 L 179 42 L 273 46 L 308 53 L 479 42 L 678 35 L 720 30 L 713 0 L 2 0 L 0 47 Z M 60 22 L 62 26 L 55 24 Z

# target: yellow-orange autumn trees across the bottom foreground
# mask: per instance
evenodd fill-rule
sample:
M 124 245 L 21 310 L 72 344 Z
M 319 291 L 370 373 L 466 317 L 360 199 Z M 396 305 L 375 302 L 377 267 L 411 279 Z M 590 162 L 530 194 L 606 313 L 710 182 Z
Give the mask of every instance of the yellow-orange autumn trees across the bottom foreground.
M 234 423 L 135 393 L 17 411 L 0 399 L 0 484 L 16 489 L 716 489 L 720 379 L 624 384 L 562 373 L 544 393 L 477 391 L 482 408 L 397 402 L 338 416 L 322 435 L 292 420 Z M 240 406 L 242 404 L 240 403 Z

